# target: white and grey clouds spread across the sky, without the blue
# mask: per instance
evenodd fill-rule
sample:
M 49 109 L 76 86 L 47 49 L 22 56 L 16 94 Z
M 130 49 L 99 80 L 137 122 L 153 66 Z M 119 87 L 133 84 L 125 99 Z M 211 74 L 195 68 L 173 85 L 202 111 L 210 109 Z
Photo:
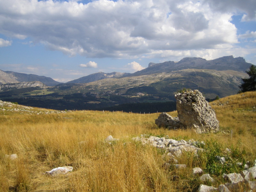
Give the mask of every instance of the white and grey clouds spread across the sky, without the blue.
M 239 47 L 240 38 L 255 41 L 255 31 L 238 35 L 231 20 L 238 13 L 244 21 L 256 20 L 256 1 L 246 2 L 0 0 L 0 33 L 88 58 L 244 56 L 255 47 Z M 11 41 L 0 39 L 0 46 L 11 46 Z

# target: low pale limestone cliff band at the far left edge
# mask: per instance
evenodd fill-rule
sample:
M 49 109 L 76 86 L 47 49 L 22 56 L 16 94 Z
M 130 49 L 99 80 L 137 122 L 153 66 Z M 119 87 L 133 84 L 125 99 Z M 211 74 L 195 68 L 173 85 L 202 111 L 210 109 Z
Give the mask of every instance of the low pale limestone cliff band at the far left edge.
M 11 83 L 11 84 L 0 84 L 0 91 L 7 91 L 11 89 L 19 89 L 24 87 L 41 87 L 45 88 L 46 85 L 40 81 L 31 81 L 31 82 L 21 82 L 21 83 Z

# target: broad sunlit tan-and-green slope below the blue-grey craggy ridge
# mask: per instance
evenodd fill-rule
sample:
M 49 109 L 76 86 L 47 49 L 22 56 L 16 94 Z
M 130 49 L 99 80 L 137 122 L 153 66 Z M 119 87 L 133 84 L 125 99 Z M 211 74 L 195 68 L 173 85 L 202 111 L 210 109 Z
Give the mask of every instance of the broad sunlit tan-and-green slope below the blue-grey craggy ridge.
M 186 87 L 199 89 L 204 92 L 205 97 L 214 98 L 216 95 L 225 97 L 237 93 L 241 78 L 247 76 L 246 73 L 234 70 L 183 69 L 169 73 L 107 78 L 85 84 L 61 84 L 52 87 L 52 90 L 61 95 L 76 92 L 134 95 L 141 92 L 168 96 Z

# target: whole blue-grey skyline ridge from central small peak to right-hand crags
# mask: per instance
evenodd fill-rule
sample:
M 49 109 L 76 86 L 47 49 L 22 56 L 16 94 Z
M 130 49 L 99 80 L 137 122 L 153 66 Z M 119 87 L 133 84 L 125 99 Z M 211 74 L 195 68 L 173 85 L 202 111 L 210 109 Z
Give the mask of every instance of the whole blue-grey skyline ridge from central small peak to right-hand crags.
M 214 60 L 205 60 L 197 57 L 186 57 L 179 62 L 165 61 L 163 63 L 149 63 L 148 68 L 135 73 L 94 73 L 88 76 L 69 81 L 67 83 L 90 83 L 106 78 L 120 78 L 127 76 L 141 76 L 150 75 L 156 73 L 170 73 L 172 71 L 179 71 L 183 69 L 214 69 L 217 71 L 234 70 L 239 72 L 245 72 L 250 68 L 252 64 L 245 62 L 244 58 L 231 56 L 225 56 Z

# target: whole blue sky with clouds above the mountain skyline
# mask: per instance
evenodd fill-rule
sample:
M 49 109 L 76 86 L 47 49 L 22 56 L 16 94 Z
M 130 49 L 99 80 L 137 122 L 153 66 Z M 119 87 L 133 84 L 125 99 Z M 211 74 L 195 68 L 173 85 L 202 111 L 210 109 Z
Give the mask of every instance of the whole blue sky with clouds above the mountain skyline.
M 255 0 L 0 0 L 0 69 L 68 82 L 149 62 L 256 64 Z

